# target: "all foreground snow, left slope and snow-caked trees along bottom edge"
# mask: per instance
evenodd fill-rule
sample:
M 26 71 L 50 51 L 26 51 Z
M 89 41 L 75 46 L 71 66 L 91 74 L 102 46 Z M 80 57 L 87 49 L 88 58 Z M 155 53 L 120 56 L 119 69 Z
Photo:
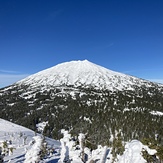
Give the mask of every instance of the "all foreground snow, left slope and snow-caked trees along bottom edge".
M 98 146 L 96 150 L 83 146 L 84 134 L 79 134 L 79 145 L 72 139 L 71 135 L 62 130 L 63 138 L 60 142 L 46 138 L 47 146 L 52 150 L 46 158 L 40 162 L 44 163 L 63 163 L 70 160 L 71 163 L 86 163 L 96 161 L 96 163 L 111 163 L 111 149 L 107 146 Z M 3 148 L 3 142 L 12 147 L 13 152 L 9 152 L 5 157 L 5 162 L 10 163 L 35 163 L 39 159 L 40 146 L 42 144 L 42 135 L 36 135 L 32 130 L 0 119 L 0 147 Z M 116 163 L 145 163 L 142 157 L 142 150 L 146 150 L 150 155 L 157 151 L 149 149 L 138 140 L 133 140 L 125 145 L 125 151 L 122 156 L 118 156 Z

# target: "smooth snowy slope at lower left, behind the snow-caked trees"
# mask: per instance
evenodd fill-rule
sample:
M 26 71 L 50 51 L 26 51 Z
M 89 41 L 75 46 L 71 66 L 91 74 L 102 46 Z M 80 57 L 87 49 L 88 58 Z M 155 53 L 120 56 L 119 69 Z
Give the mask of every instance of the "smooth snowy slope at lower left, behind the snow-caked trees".
M 9 121 L 0 119 L 0 143 L 3 141 L 10 142 L 9 146 L 14 148 L 13 153 L 4 157 L 4 161 L 10 163 L 24 162 L 25 154 L 32 146 L 35 133 L 25 127 L 16 125 Z M 60 143 L 53 139 L 46 138 L 49 145 L 59 148 Z M 57 157 L 55 157 L 56 159 Z M 49 160 L 53 159 L 53 156 Z

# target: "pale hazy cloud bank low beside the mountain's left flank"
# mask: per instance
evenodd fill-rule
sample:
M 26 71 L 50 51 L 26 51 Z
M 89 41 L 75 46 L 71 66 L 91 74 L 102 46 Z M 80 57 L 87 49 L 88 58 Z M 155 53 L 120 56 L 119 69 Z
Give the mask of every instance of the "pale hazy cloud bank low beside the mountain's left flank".
M 0 74 L 0 88 L 9 86 L 27 76 L 29 74 Z

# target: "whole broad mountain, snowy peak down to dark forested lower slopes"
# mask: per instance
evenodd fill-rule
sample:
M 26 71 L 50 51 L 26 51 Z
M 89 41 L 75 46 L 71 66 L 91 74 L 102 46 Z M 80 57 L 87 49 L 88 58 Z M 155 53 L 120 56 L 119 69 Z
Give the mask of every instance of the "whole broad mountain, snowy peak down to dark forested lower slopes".
M 0 89 L 0 111 L 1 118 L 57 140 L 61 129 L 84 133 L 89 148 L 115 145 L 114 155 L 123 151 L 120 142 L 133 139 L 160 149 L 163 144 L 163 85 L 87 60 L 61 63 Z

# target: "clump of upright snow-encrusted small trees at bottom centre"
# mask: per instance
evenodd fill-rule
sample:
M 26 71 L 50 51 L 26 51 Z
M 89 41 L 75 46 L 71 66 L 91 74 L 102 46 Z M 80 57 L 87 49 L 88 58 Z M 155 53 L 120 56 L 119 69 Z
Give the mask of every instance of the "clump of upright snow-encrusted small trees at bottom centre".
M 78 140 L 71 137 L 68 131 L 62 130 L 63 138 L 61 142 L 61 156 L 59 163 L 106 163 L 109 148 L 107 146 L 98 146 L 96 150 L 91 151 L 85 147 L 85 135 L 79 133 Z M 74 141 L 75 140 L 75 141 Z

